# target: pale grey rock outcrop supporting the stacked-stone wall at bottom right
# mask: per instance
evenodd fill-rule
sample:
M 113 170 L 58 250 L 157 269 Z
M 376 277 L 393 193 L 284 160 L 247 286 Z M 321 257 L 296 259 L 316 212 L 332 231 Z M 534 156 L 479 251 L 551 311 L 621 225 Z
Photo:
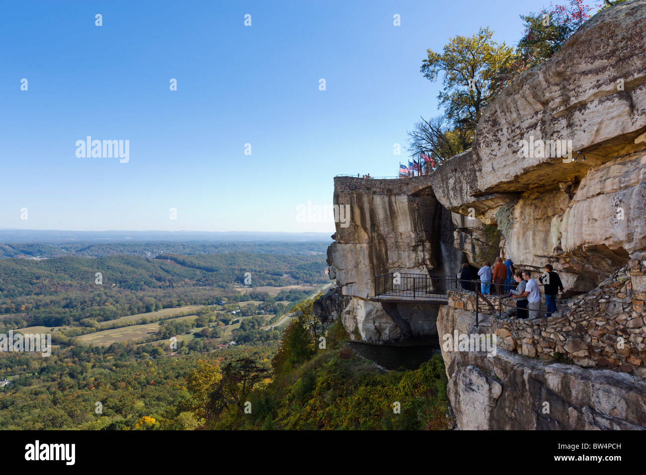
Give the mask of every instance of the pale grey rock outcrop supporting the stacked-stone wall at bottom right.
M 505 335 L 494 340 L 488 316 L 480 315 L 479 326 L 475 326 L 474 306 L 475 293 L 455 293 L 437 319 L 441 343 L 458 335 L 486 335 L 495 342 L 493 352 L 443 343 L 448 396 L 457 428 L 646 428 L 646 379 L 508 352 L 500 344 Z M 587 345 L 583 348 L 587 350 Z M 570 350 L 576 350 L 574 345 Z

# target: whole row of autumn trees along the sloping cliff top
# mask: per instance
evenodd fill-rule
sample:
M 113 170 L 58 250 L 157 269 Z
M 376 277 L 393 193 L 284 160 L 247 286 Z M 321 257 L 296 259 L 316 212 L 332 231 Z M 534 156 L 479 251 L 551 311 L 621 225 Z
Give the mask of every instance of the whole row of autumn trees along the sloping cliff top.
M 616 3 L 621 0 L 607 0 L 603 8 Z M 441 52 L 426 50 L 420 71 L 430 81 L 442 81 L 437 100 L 443 113 L 421 118 L 408 132 L 410 156 L 421 159 L 425 154 L 432 158 L 426 166 L 436 167 L 470 148 L 488 103 L 523 72 L 554 55 L 589 19 L 590 10 L 583 0 L 567 0 L 521 15 L 525 31 L 516 48 L 494 41 L 494 32 L 486 26 L 472 36 L 450 38 Z

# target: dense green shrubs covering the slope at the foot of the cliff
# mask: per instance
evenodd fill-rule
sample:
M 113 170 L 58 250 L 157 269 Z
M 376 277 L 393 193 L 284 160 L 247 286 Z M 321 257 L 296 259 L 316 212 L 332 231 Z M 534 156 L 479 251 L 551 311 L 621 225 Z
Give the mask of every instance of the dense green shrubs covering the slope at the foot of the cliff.
M 326 350 L 256 390 L 251 401 L 255 412 L 227 419 L 228 428 L 450 428 L 439 355 L 418 370 L 383 372 L 348 348 Z

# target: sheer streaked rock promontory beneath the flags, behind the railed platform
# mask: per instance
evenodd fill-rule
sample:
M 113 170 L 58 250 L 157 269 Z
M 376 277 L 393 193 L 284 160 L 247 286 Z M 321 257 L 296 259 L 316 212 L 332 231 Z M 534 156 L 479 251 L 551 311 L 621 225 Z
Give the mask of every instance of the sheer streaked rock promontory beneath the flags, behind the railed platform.
M 331 295 L 315 304 L 320 319 L 340 317 L 348 333 L 384 343 L 435 333 L 437 306 L 380 304 L 375 276 L 390 272 L 428 275 L 439 264 L 442 207 L 419 180 L 335 178 L 334 204 L 347 210 L 328 248 L 331 279 L 343 299 Z M 424 192 L 423 190 L 426 190 Z M 421 191 L 422 190 L 422 191 Z M 452 231 L 450 245 L 452 247 Z M 336 294 L 335 294 L 336 295 Z M 342 304 L 342 310 L 338 307 Z

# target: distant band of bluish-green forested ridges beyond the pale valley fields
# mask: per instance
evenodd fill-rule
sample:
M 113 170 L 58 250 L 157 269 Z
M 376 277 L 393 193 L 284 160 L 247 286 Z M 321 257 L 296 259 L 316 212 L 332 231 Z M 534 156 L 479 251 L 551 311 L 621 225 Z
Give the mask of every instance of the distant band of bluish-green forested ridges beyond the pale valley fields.
M 271 244 L 266 246 L 271 249 Z M 275 249 L 282 252 L 283 246 L 278 243 Z M 325 269 L 323 255 L 251 252 L 159 259 L 0 259 L 0 328 L 101 322 L 162 308 L 216 304 L 223 298 L 268 301 L 272 287 L 328 283 Z M 293 301 L 297 296 L 289 296 L 291 291 L 271 297 Z M 307 295 L 300 292 L 298 298 Z

